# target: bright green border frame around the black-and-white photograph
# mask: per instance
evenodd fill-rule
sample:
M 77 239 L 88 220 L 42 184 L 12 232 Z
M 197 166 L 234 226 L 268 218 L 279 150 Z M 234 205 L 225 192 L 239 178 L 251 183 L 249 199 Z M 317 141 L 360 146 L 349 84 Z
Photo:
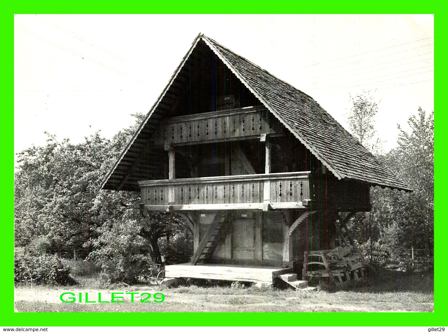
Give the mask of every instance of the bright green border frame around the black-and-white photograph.
M 76 6 L 76 7 L 74 7 Z M 437 129 L 436 136 L 436 175 L 435 197 L 438 208 L 435 210 L 435 312 L 434 313 L 14 313 L 13 312 L 13 14 L 16 13 L 434 13 L 435 30 L 443 35 L 445 32 L 445 9 L 440 5 L 415 2 L 406 4 L 376 1 L 375 8 L 371 3 L 360 2 L 327 2 L 303 3 L 283 1 L 263 4 L 260 1 L 241 3 L 241 1 L 226 1 L 213 5 L 207 1 L 201 2 L 170 2 L 169 4 L 129 3 L 126 8 L 115 8 L 111 2 L 78 1 L 76 4 L 60 2 L 46 3 L 10 3 L 2 10 L 1 45 L 4 79 L 2 82 L 3 133 L 6 144 L 2 145 L 3 155 L 8 156 L 0 165 L 3 178 L 3 196 L 5 218 L 1 229 L 7 236 L 2 239 L 4 254 L 2 255 L 2 272 L 0 285 L 3 286 L 0 308 L 3 326 L 446 326 L 447 301 L 445 294 L 444 266 L 446 251 L 443 234 L 446 233 L 446 223 L 443 222 L 443 209 L 439 207 L 444 199 L 444 189 L 447 180 L 442 176 L 444 170 L 444 148 L 446 135 L 443 129 Z M 164 33 L 163 30 L 160 31 Z M 437 46 L 440 53 L 444 43 Z M 439 64 L 439 63 L 438 63 Z M 446 66 L 446 65 L 445 65 Z M 445 66 L 437 68 L 437 76 L 442 77 Z M 441 92 L 443 87 L 439 87 Z M 437 90 L 436 90 L 437 91 Z M 417 108 L 418 105 L 416 105 Z M 428 111 L 430 111 L 428 109 Z M 436 128 L 443 128 L 447 123 L 447 112 L 437 113 Z M 440 152 L 438 148 L 440 147 Z M 9 159 L 11 157 L 11 159 Z M 337 315 L 337 316 L 336 316 Z

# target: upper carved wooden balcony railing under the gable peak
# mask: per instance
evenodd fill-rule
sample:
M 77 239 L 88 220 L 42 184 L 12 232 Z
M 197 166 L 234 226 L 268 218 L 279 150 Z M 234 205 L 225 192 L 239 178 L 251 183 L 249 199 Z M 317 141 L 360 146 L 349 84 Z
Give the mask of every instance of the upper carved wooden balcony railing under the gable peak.
M 281 132 L 279 122 L 262 106 L 167 118 L 159 123 L 155 144 L 186 144 L 258 137 Z

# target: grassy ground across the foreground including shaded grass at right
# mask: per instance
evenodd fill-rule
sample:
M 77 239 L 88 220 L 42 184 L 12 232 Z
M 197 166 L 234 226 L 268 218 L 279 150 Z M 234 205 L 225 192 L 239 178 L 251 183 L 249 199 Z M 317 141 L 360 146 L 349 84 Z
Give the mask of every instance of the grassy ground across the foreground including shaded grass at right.
M 321 283 L 321 289 L 314 292 L 277 290 L 270 287 L 229 287 L 209 285 L 164 286 L 134 285 L 114 288 L 114 292 L 145 292 L 165 294 L 162 303 L 60 303 L 62 292 L 86 292 L 86 289 L 34 288 L 34 293 L 52 292 L 56 301 L 36 298 L 15 303 L 20 312 L 379 312 L 407 311 L 428 312 L 434 310 L 433 273 L 405 273 L 381 270 L 376 278 L 367 284 L 358 284 L 349 289 L 328 287 Z M 87 283 L 89 284 L 89 283 Z M 91 283 L 95 286 L 94 283 Z M 85 287 L 85 286 L 84 286 Z M 16 293 L 28 290 L 17 287 Z M 88 290 L 90 293 L 98 292 Z M 111 290 L 101 290 L 112 292 Z M 49 296 L 49 295 L 47 295 Z M 30 297 L 22 297 L 30 298 Z

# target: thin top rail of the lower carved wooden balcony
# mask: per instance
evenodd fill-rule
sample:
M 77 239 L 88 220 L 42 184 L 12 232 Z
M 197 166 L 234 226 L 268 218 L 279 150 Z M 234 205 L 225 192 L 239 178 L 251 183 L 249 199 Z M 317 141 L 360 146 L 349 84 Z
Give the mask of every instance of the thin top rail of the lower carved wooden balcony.
M 162 180 L 146 180 L 138 181 L 140 187 L 159 186 L 167 184 L 196 184 L 196 183 L 219 183 L 233 181 L 262 181 L 262 180 L 280 180 L 280 179 L 309 179 L 310 171 L 306 172 L 288 172 L 288 173 L 271 173 L 271 174 L 248 174 L 248 175 L 227 175 L 204 178 L 187 178 L 187 179 L 162 179 Z

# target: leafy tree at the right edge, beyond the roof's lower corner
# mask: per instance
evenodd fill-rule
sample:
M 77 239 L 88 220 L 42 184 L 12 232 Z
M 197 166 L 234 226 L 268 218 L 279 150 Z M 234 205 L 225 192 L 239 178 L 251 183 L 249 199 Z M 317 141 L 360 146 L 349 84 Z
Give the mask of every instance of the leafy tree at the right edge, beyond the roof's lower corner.
M 410 131 L 398 126 L 398 148 L 387 154 L 392 170 L 405 180 L 414 192 L 393 193 L 389 197 L 396 208 L 397 236 L 408 249 L 434 250 L 434 112 L 409 117 Z

